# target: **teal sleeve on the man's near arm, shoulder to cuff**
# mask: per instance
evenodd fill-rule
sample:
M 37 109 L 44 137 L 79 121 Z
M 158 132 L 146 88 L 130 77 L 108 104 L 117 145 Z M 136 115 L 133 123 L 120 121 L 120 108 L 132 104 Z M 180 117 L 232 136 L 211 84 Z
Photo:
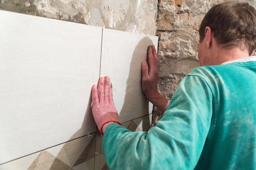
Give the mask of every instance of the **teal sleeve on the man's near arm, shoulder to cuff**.
M 204 78 L 189 75 L 162 119 L 148 132 L 110 124 L 102 150 L 110 170 L 193 170 L 211 125 L 212 93 Z

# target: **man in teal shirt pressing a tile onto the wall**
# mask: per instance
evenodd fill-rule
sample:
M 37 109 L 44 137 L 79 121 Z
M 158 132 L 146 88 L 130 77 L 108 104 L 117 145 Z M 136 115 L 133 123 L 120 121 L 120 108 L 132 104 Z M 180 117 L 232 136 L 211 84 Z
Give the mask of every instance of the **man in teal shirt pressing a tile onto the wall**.
M 142 89 L 164 115 L 148 132 L 119 125 L 108 76 L 92 87 L 92 112 L 111 170 L 256 169 L 256 10 L 218 4 L 199 32 L 201 67 L 184 77 L 171 102 L 157 92 L 157 54 L 149 47 Z

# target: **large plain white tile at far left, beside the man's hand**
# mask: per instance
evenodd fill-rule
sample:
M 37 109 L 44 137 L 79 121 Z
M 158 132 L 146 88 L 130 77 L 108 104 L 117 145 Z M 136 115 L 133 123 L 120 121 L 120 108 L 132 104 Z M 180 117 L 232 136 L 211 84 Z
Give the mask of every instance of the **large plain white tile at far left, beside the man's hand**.
M 96 131 L 102 28 L 0 10 L 0 164 Z

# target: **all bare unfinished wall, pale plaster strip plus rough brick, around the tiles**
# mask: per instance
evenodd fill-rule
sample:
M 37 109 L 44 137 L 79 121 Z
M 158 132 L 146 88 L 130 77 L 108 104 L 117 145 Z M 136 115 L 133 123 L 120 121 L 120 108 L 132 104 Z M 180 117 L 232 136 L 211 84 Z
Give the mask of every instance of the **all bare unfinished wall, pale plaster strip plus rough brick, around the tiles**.
M 198 64 L 198 29 L 205 13 L 229 0 L 0 0 L 0 9 L 159 36 L 159 83 L 171 99 Z M 248 2 L 256 7 L 255 0 Z M 162 117 L 153 111 L 153 126 Z

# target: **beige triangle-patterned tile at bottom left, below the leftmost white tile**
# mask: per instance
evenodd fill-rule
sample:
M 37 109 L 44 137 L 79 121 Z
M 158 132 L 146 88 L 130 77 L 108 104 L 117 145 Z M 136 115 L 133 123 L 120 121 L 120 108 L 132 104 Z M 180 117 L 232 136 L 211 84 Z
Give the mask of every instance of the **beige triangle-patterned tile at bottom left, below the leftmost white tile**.
M 0 165 L 0 170 L 93 170 L 96 133 Z

